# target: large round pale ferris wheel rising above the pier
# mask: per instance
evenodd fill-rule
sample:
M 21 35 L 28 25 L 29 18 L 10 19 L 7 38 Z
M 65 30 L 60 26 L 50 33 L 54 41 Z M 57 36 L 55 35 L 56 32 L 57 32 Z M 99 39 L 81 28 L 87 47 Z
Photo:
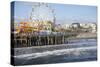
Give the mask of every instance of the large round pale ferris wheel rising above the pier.
M 31 22 L 51 21 L 55 24 L 56 16 L 54 9 L 46 3 L 37 3 L 33 5 L 30 13 Z

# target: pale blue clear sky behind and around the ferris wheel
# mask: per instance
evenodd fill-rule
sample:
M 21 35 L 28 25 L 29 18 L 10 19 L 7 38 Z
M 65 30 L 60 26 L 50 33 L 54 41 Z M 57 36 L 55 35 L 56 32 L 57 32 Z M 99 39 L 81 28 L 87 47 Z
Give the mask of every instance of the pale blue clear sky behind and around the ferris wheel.
M 54 4 L 48 3 L 49 8 L 45 6 L 36 7 L 36 2 L 14 2 L 14 18 L 19 22 L 22 19 L 29 19 L 30 15 L 35 18 L 53 20 L 56 17 L 56 24 L 70 24 L 74 22 L 90 23 L 97 22 L 97 7 L 87 5 Z M 32 7 L 34 12 L 32 13 Z M 54 10 L 52 14 L 51 10 Z M 35 18 L 33 18 L 35 20 Z

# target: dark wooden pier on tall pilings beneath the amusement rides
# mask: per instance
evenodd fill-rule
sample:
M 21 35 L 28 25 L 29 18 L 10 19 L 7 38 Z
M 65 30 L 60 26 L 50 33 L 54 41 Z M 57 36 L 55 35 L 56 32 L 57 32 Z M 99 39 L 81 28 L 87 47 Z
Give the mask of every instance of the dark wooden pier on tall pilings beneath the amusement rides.
M 73 34 L 69 34 L 72 36 Z M 14 34 L 13 45 L 14 47 L 31 47 L 31 46 L 43 46 L 43 45 L 59 45 L 66 43 L 65 39 L 69 35 L 38 35 L 33 33 L 20 33 Z

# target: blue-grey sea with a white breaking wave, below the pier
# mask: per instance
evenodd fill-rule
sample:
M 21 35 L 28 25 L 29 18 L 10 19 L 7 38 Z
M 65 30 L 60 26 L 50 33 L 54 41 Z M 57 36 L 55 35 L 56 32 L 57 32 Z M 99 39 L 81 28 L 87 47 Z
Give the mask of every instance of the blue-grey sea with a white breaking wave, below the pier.
M 67 48 L 15 57 L 15 65 L 67 63 L 97 60 L 97 39 L 70 40 Z

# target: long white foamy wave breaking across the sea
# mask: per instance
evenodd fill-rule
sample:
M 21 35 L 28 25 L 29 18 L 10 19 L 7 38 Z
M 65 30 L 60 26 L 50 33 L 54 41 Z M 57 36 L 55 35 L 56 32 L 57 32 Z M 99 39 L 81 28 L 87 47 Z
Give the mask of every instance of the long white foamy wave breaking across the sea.
M 74 56 L 80 56 L 84 53 L 84 55 L 88 55 L 89 51 L 96 51 L 96 46 L 91 47 L 79 47 L 79 48 L 70 48 L 70 49 L 60 49 L 60 50 L 53 50 L 53 51 L 44 51 L 44 52 L 38 52 L 38 53 L 31 53 L 31 54 L 23 54 L 14 56 L 14 58 L 26 58 L 26 59 L 32 59 L 32 58 L 38 58 L 38 57 L 45 57 L 50 55 L 74 55 Z

